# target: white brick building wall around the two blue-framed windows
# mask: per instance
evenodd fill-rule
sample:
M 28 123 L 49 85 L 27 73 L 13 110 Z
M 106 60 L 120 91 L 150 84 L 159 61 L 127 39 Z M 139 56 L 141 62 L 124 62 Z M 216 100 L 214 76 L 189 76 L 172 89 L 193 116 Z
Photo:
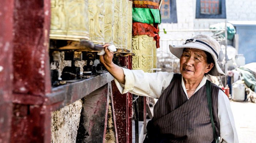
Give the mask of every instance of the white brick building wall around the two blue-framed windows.
M 177 58 L 169 52 L 169 44 L 180 45 L 197 34 L 211 35 L 212 32 L 172 31 L 176 29 L 209 29 L 212 24 L 227 21 L 256 21 L 255 0 L 226 0 L 226 19 L 196 19 L 196 0 L 176 0 L 177 23 L 159 25 L 160 48 L 157 49 L 158 67 L 169 67 L 165 71 L 178 72 Z M 165 34 L 162 30 L 165 29 Z M 169 65 L 165 65 L 170 63 Z M 164 66 L 164 67 L 163 67 Z

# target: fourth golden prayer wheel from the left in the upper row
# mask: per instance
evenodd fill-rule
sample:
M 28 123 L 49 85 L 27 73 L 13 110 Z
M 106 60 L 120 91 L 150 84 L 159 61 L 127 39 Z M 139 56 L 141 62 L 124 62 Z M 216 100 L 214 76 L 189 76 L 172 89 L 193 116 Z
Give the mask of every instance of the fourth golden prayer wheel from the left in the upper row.
M 123 48 L 123 0 L 115 0 L 114 3 L 114 45 L 117 48 Z

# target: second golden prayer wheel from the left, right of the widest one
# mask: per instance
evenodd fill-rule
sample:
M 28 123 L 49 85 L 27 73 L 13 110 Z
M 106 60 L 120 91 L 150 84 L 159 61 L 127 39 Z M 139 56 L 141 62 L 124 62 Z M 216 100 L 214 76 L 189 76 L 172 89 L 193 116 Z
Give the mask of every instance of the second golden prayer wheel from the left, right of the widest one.
M 89 0 L 89 35 L 94 44 L 104 44 L 104 0 Z

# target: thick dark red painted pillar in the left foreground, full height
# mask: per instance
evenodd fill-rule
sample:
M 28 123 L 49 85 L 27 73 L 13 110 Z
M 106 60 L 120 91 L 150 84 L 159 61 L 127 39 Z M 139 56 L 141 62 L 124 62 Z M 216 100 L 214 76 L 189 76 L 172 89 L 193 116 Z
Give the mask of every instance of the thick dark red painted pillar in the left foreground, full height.
M 8 0 L 9 1 L 9 0 Z M 14 0 L 11 142 L 50 142 L 50 0 Z

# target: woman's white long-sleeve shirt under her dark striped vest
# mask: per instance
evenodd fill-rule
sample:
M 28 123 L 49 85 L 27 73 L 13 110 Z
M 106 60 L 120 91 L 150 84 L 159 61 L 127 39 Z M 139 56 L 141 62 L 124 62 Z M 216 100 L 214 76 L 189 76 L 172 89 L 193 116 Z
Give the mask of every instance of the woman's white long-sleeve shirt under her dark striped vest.
M 147 73 L 142 70 L 129 70 L 125 68 L 123 68 L 123 71 L 125 75 L 125 84 L 121 84 L 114 79 L 121 94 L 130 92 L 132 94 L 156 99 L 158 99 L 163 91 L 169 86 L 174 74 L 173 72 Z M 196 88 L 196 91 L 206 83 L 206 80 L 207 78 L 204 76 L 199 86 Z M 188 97 L 183 78 L 181 84 Z M 229 99 L 221 90 L 219 90 L 218 95 L 218 118 L 221 132 L 219 143 L 238 143 L 237 131 Z

